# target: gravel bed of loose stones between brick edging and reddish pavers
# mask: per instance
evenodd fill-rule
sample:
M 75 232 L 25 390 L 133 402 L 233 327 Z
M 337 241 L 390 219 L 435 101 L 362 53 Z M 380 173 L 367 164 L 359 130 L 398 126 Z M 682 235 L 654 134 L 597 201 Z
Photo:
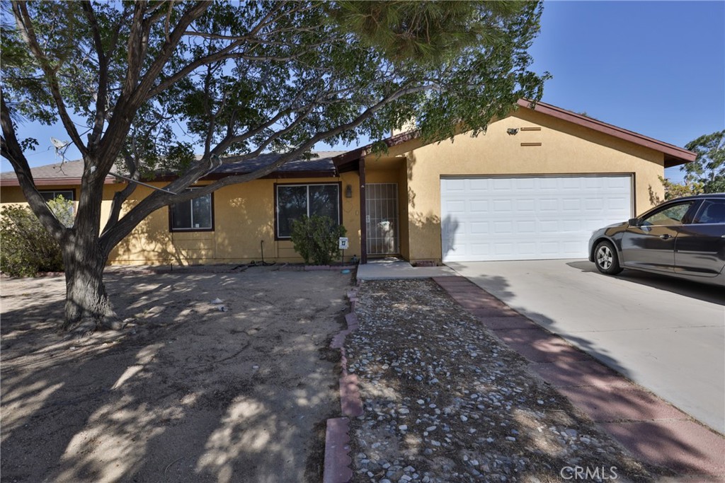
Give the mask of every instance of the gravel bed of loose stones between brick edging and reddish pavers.
M 652 481 L 430 280 L 363 282 L 347 338 L 365 413 L 350 424 L 354 482 Z M 597 471 L 597 474 L 592 474 Z

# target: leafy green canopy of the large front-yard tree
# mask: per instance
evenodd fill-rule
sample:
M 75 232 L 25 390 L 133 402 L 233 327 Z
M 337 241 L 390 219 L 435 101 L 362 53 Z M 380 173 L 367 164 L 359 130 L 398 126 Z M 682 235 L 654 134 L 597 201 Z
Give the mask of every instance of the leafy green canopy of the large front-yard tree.
M 540 98 L 548 77 L 529 70 L 538 1 L 210 1 L 144 83 L 145 101 L 131 106 L 130 93 L 121 96 L 129 75 L 149 74 L 193 5 L 29 1 L 42 57 L 5 9 L 0 45 L 12 114 L 56 123 L 57 83 L 66 109 L 89 128 L 99 118 L 132 119 L 113 156 L 122 167 L 133 159 L 143 176 L 184 172 L 191 146 L 221 144 L 220 155 L 290 151 L 313 139 L 377 140 L 409 119 L 441 140 L 459 122 L 481 130 L 518 98 Z M 129 38 L 146 29 L 147 47 L 129 50 Z

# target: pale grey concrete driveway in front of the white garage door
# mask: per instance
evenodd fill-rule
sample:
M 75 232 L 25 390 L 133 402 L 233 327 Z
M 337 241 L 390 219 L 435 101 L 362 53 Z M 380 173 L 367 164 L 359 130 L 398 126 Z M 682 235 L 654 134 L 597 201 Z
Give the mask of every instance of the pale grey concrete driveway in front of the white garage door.
M 725 433 L 725 290 L 586 260 L 448 264 L 674 406 Z

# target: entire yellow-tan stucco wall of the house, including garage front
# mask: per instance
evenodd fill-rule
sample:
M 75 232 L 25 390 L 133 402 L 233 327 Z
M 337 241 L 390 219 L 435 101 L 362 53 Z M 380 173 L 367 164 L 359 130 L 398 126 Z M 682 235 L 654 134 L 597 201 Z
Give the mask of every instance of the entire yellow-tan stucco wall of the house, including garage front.
M 539 130 L 521 130 L 522 127 Z M 509 135 L 509 128 L 519 132 Z M 421 146 L 419 140 L 412 140 L 394 146 L 385 156 L 367 156 L 365 167 L 368 183 L 397 183 L 399 251 L 413 262 L 441 259 L 442 176 L 631 174 L 634 214 L 650 208 L 650 190 L 663 197 L 658 180 L 658 176 L 663 176 L 662 153 L 529 109 L 520 109 L 510 117 L 493 122 L 486 133 L 476 138 L 461 134 L 453 142 L 444 140 Z M 307 182 L 340 183 L 342 222 L 347 227 L 350 243 L 346 259 L 353 254 L 360 256 L 360 178 L 357 172 L 348 172 L 339 177 L 265 179 L 222 188 L 214 194 L 215 230 L 212 232 L 170 232 L 168 209 L 160 209 L 115 248 L 110 263 L 247 263 L 261 259 L 262 241 L 266 261 L 301 261 L 290 241 L 275 240 L 274 185 Z M 347 185 L 352 186 L 352 198 L 344 197 Z M 106 186 L 104 220 L 113 193 L 123 186 Z M 149 188 L 138 188 L 133 199 L 141 199 L 148 193 Z M 0 189 L 0 201 L 18 203 L 24 198 L 20 188 L 4 187 Z

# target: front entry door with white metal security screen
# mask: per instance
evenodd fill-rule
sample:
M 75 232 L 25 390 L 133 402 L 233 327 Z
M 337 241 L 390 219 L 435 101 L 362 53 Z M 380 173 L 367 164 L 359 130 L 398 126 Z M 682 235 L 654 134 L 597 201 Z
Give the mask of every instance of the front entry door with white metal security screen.
M 371 182 L 365 186 L 365 196 L 368 255 L 397 255 L 398 185 Z

